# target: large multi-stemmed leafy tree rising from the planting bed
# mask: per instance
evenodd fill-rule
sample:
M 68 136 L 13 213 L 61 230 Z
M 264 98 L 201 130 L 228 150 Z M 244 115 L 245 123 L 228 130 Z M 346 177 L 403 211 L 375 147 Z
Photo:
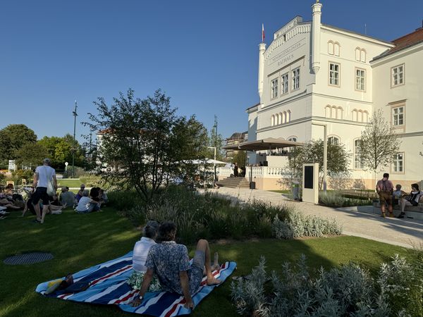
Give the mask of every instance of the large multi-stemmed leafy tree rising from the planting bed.
M 108 106 L 103 98 L 94 101 L 97 114 L 89 113 L 97 140 L 97 167 L 102 175 L 123 188 L 133 188 L 149 201 L 161 185 L 187 164 L 183 160 L 204 156 L 207 132 L 195 117 L 176 115 L 170 98 L 161 90 L 147 99 L 135 98 L 128 89 Z M 102 168 L 104 163 L 109 168 Z

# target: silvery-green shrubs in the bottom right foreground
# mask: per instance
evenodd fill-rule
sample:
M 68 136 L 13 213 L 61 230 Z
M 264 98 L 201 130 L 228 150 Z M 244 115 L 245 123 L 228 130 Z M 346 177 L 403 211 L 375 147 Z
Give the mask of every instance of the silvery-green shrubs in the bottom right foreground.
M 248 279 L 232 282 L 231 296 L 244 316 L 422 316 L 422 266 L 398 255 L 384 263 L 379 278 L 355 263 L 312 277 L 302 255 L 281 275 L 266 273 L 264 258 Z M 271 285 L 264 287 L 266 281 Z

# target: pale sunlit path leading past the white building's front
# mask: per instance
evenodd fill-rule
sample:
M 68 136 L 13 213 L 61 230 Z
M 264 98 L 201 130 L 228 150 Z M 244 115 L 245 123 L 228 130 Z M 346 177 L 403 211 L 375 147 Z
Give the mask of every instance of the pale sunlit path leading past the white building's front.
M 260 189 L 235 189 L 221 187 L 207 189 L 233 201 L 262 200 L 271 204 L 289 204 L 297 211 L 324 218 L 336 218 L 343 225 L 345 235 L 364 237 L 371 240 L 396 244 L 401 247 L 423 247 L 423 220 L 382 218 L 372 206 L 359 206 L 342 209 L 318 206 L 292 201 L 282 194 Z

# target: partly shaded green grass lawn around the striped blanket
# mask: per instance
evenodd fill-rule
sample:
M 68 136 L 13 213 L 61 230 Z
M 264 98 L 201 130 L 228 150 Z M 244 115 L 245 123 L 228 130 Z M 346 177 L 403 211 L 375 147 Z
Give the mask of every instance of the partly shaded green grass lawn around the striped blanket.
M 102 213 L 76 214 L 71 209 L 47 216 L 43 225 L 32 223 L 35 216 L 20 218 L 14 211 L 0 220 L 0 316 L 129 316 L 114 306 L 80 304 L 42 297 L 35 292 L 40 283 L 114 259 L 133 249 L 140 233 L 111 208 Z M 193 255 L 193 247 L 189 247 Z M 27 251 L 49 251 L 54 259 L 27 266 L 8 266 L 6 256 Z M 280 270 L 283 261 L 295 261 L 306 254 L 312 268 L 330 268 L 355 261 L 372 271 L 393 254 L 414 252 L 390 244 L 358 237 L 305 240 L 251 240 L 212 244 L 220 259 L 238 263 L 234 275 L 250 273 L 261 255 L 269 269 Z M 192 316 L 238 316 L 231 304 L 231 281 L 227 280 L 197 306 Z

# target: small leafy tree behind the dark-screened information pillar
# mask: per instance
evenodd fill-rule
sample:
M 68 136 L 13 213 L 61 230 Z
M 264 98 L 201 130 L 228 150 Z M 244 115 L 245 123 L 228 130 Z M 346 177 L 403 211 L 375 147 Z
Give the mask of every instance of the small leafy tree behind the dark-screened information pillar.
M 289 152 L 288 169 L 292 171 L 294 177 L 297 179 L 298 175 L 302 174 L 302 164 L 304 163 L 319 163 L 319 175 L 321 176 L 320 187 L 323 184 L 323 140 L 312 140 L 307 142 L 302 147 L 295 147 Z M 342 144 L 327 144 L 327 175 L 336 176 L 342 173 L 348 173 L 348 166 L 350 165 L 351 154 L 345 149 Z

